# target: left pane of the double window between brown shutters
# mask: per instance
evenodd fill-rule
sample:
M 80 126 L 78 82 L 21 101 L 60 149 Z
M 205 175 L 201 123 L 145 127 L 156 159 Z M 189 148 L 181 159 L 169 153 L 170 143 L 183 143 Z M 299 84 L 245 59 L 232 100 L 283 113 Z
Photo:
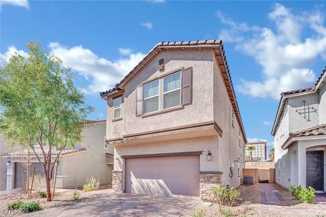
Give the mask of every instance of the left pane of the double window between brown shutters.
M 144 85 L 145 114 L 158 111 L 159 80 Z

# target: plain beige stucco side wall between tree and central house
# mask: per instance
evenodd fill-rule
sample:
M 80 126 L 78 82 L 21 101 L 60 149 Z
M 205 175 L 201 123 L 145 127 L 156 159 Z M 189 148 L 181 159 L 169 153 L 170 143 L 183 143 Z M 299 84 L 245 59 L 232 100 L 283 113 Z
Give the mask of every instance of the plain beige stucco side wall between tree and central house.
M 105 153 L 113 153 L 113 147 L 104 148 L 105 122 L 85 128 L 83 135 L 80 146 L 86 151 L 61 157 L 63 186 L 81 186 L 91 176 L 111 183 L 113 165 L 106 165 Z

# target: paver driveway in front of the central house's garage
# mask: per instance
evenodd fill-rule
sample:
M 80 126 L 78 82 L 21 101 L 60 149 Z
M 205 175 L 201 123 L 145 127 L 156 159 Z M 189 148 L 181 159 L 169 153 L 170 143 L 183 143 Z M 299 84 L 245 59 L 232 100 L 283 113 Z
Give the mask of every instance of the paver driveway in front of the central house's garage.
M 201 202 L 199 199 L 116 193 L 107 190 L 96 192 L 100 197 L 24 216 L 180 216 Z

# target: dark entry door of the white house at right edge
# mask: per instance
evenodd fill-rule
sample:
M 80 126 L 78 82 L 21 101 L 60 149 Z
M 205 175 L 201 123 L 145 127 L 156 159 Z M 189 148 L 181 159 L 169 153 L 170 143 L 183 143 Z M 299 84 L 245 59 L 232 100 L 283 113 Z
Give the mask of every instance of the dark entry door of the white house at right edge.
M 323 151 L 307 151 L 307 186 L 315 188 L 316 191 L 324 191 L 324 152 Z

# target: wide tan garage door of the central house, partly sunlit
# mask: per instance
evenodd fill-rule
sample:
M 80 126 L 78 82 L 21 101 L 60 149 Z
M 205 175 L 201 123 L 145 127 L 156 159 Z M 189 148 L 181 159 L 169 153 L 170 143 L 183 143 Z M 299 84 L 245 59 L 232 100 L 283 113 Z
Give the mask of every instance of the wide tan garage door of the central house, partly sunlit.
M 126 192 L 199 196 L 199 155 L 126 159 Z

